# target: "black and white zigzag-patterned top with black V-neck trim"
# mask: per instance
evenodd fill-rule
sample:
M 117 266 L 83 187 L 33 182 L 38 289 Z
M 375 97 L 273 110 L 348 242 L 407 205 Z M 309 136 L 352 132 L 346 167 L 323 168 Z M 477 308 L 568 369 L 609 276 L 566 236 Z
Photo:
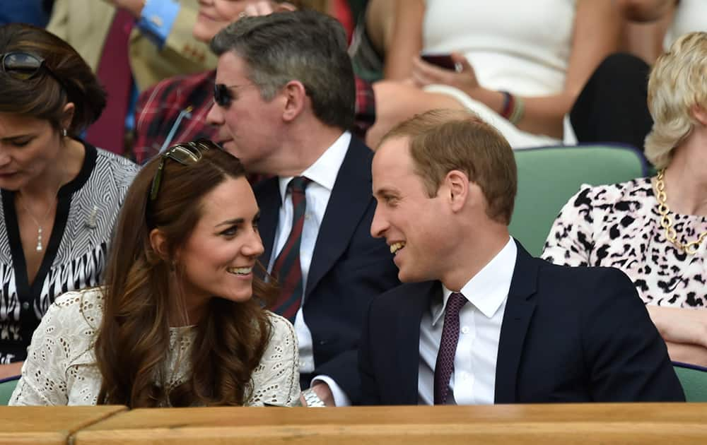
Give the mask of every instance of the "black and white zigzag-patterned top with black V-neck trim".
M 15 193 L 0 200 L 0 364 L 25 360 L 32 333 L 54 299 L 98 285 L 113 226 L 138 167 L 84 143 L 81 171 L 57 194 L 57 215 L 45 256 L 29 283 Z

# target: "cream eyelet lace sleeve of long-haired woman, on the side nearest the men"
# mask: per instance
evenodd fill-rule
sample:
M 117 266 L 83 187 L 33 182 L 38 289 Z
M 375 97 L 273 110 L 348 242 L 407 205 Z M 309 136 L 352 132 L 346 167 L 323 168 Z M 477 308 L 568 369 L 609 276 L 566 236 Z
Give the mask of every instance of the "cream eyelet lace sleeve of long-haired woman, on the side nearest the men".
M 289 321 L 269 314 L 270 341 L 260 363 L 253 372 L 250 406 L 293 406 L 300 398 L 299 348 L 295 330 Z

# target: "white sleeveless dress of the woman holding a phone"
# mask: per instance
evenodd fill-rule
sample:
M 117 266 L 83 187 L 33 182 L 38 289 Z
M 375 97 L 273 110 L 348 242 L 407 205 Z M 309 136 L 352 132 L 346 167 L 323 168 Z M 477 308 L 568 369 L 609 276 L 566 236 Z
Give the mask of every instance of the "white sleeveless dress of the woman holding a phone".
M 484 88 L 525 97 L 554 95 L 565 84 L 575 8 L 576 0 L 427 0 L 423 51 L 462 52 Z M 513 148 L 561 142 L 518 130 L 456 88 L 425 89 L 451 95 L 479 113 Z

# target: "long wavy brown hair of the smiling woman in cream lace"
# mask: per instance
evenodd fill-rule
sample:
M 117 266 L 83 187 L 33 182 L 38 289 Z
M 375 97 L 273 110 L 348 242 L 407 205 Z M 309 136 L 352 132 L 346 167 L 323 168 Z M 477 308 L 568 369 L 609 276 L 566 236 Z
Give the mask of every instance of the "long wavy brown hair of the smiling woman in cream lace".
M 202 198 L 227 178 L 245 174 L 238 159 L 215 145 L 202 155 L 192 165 L 165 159 L 155 201 L 148 202 L 148 196 L 160 157 L 142 168 L 127 192 L 107 263 L 103 321 L 95 343 L 103 375 L 100 404 L 243 405 L 250 396 L 251 374 L 271 331 L 262 309 L 271 288 L 258 278 L 247 302 L 209 301 L 191 357 L 185 357 L 192 369 L 187 381 L 170 391 L 164 369 L 170 355 L 169 320 L 186 318 L 182 297 L 168 291 L 168 280 L 182 283 L 178 264 L 170 266 L 175 251 L 201 218 Z M 149 232 L 155 227 L 167 239 L 167 258 L 151 246 Z

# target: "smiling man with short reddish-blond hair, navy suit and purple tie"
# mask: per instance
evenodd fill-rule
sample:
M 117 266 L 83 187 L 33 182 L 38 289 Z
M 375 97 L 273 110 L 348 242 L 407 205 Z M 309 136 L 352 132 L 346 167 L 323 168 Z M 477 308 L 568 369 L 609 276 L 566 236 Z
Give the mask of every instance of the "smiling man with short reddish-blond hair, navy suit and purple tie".
M 368 310 L 361 403 L 684 401 L 631 280 L 532 258 L 508 234 L 515 191 L 508 142 L 472 114 L 385 136 L 370 230 L 406 284 Z

